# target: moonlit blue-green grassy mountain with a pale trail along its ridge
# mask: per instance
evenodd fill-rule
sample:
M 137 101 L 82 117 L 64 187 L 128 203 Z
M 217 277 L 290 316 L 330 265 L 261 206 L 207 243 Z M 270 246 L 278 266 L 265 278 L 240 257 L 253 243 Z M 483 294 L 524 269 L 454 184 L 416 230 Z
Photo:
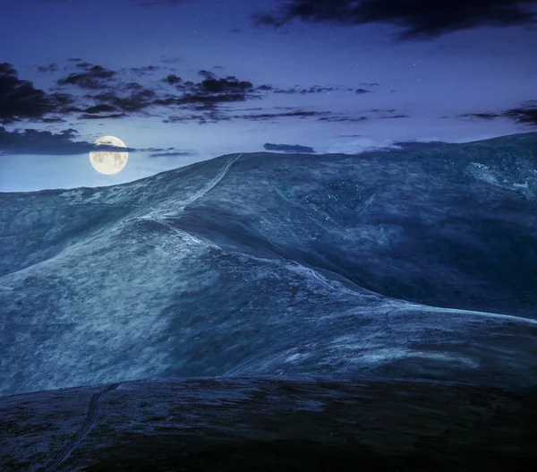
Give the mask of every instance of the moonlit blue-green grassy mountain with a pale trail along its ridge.
M 0 194 L 0 394 L 183 376 L 537 385 L 537 133 Z

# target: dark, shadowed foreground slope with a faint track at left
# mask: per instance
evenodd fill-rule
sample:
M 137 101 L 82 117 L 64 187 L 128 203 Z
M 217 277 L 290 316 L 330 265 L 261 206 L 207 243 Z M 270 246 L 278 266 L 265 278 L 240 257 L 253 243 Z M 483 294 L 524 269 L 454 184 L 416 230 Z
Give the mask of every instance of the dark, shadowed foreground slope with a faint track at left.
M 161 379 L 0 399 L 3 472 L 527 471 L 535 392 L 357 378 Z

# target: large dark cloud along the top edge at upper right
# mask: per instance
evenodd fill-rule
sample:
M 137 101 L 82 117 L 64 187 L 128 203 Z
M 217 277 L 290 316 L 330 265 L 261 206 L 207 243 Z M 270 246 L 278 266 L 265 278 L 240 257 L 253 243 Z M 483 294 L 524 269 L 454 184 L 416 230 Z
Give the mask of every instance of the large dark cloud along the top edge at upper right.
M 482 26 L 537 21 L 535 0 L 289 0 L 276 13 L 253 15 L 256 25 L 280 27 L 298 19 L 340 25 L 389 23 L 401 39 L 434 38 Z

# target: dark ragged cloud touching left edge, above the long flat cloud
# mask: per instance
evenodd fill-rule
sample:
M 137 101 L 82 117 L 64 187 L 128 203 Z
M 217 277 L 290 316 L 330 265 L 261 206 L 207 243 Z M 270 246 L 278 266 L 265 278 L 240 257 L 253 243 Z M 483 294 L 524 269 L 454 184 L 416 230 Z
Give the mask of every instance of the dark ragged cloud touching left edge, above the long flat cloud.
M 32 82 L 18 78 L 12 64 L 0 64 L 0 123 L 8 124 L 21 119 L 38 119 L 57 111 L 67 104 L 64 94 L 47 95 L 36 89 Z

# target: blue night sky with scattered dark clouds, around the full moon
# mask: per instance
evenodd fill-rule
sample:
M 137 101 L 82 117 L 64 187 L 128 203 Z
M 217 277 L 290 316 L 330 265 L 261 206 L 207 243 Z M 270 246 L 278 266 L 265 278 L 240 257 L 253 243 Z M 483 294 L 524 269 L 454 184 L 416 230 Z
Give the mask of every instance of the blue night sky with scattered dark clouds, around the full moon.
M 0 192 L 535 131 L 536 57 L 529 0 L 2 0 Z

